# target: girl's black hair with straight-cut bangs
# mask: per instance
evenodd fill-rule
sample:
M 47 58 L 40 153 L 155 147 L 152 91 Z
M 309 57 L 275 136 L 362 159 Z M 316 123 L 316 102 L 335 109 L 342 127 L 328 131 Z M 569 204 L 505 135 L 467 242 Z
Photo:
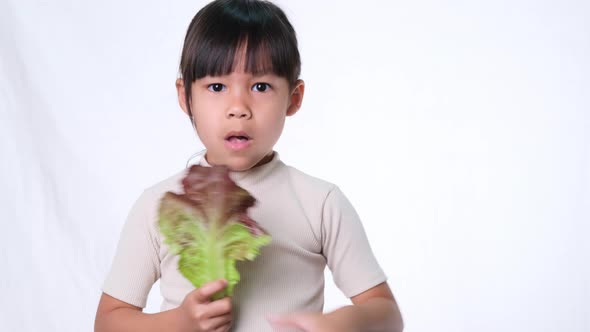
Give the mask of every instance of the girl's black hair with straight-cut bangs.
M 216 0 L 191 21 L 180 58 L 186 105 L 192 83 L 205 76 L 230 74 L 238 52 L 245 51 L 245 70 L 274 73 L 293 87 L 301 73 L 297 37 L 285 13 L 261 0 Z

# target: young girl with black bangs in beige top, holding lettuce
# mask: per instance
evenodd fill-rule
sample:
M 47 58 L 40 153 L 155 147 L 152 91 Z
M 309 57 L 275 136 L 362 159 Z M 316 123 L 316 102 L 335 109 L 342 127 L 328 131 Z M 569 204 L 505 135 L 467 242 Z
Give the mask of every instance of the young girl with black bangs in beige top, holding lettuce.
M 295 31 L 277 6 L 217 0 L 192 20 L 177 80 L 179 103 L 206 147 L 202 166 L 225 165 L 257 200 L 249 210 L 272 236 L 227 282 L 194 289 L 157 226 L 160 199 L 180 192 L 186 170 L 144 191 L 121 233 L 103 285 L 95 331 L 401 331 L 386 276 L 353 207 L 333 184 L 287 166 L 273 151 L 285 118 L 301 107 L 304 83 Z M 324 269 L 353 305 L 323 314 Z M 160 279 L 161 312 L 145 314 Z

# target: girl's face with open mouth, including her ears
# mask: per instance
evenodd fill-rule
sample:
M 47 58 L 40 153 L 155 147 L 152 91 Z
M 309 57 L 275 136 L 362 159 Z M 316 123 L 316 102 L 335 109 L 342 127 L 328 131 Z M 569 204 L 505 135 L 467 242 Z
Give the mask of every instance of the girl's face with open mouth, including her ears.
M 188 114 L 182 80 L 176 85 Z M 191 110 L 207 162 L 243 171 L 269 161 L 285 118 L 301 107 L 303 92 L 303 81 L 290 88 L 283 77 L 254 76 L 240 64 L 229 75 L 193 82 Z

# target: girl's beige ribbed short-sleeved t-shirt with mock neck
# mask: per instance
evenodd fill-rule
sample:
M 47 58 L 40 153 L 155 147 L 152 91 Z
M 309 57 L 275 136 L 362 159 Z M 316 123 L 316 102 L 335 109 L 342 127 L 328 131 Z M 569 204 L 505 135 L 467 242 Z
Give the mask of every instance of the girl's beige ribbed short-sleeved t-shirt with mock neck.
M 209 166 L 205 158 L 200 164 Z M 121 233 L 104 293 L 143 308 L 160 279 L 164 311 L 179 306 L 194 290 L 158 230 L 160 199 L 167 191 L 182 192 L 186 172 L 139 197 Z M 326 265 L 347 297 L 386 280 L 357 213 L 338 187 L 285 165 L 277 153 L 267 164 L 230 176 L 256 198 L 248 214 L 272 236 L 254 261 L 237 264 L 241 280 L 232 299 L 233 331 L 272 331 L 269 314 L 321 312 Z

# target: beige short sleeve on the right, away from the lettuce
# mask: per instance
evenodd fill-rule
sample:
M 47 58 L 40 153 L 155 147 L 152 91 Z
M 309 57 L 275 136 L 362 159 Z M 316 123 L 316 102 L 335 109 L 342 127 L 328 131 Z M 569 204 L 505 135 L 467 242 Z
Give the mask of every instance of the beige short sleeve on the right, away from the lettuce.
M 326 197 L 322 251 L 338 288 L 351 298 L 387 280 L 358 214 L 338 187 Z

